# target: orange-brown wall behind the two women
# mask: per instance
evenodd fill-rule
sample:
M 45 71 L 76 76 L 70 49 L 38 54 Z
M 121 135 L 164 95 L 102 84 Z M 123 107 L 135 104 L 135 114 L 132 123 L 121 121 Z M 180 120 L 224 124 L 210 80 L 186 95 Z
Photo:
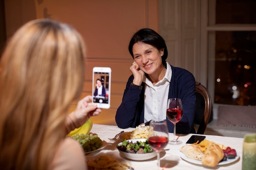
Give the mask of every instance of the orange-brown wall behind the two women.
M 81 97 L 92 94 L 92 68 L 112 68 L 111 107 L 92 117 L 94 123 L 114 124 L 132 57 L 128 42 L 143 27 L 158 32 L 158 0 L 5 0 L 7 39 L 22 24 L 52 18 L 72 25 L 87 46 L 85 82 Z M 74 110 L 76 102 L 70 107 Z

